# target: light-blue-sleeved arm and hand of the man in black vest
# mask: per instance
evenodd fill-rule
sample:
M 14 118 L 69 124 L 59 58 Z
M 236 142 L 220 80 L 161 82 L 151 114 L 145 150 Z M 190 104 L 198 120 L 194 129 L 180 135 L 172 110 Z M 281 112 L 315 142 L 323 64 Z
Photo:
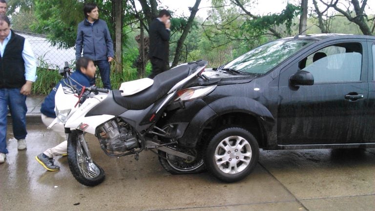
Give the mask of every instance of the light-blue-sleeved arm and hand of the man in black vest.
M 27 40 L 23 44 L 22 59 L 25 62 L 26 83 L 21 87 L 20 93 L 29 95 L 33 82 L 37 80 L 37 63 L 31 45 Z

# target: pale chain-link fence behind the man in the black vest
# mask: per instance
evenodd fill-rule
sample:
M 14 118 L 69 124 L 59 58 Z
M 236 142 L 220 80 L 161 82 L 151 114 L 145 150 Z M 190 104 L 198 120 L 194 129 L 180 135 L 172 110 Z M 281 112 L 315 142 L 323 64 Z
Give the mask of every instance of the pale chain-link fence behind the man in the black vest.
M 30 42 L 37 58 L 38 67 L 49 69 L 61 69 L 64 62 L 73 63 L 76 59 L 75 49 L 59 49 L 46 39 L 45 35 L 14 30 L 17 34 Z

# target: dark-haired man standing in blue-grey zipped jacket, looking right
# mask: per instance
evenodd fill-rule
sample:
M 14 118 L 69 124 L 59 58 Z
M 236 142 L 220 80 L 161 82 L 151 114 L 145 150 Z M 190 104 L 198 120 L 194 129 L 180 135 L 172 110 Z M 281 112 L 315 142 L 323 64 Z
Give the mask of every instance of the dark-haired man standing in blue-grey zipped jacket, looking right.
M 76 60 L 83 54 L 99 67 L 104 88 L 111 89 L 109 62 L 113 61 L 114 51 L 111 35 L 105 21 L 99 19 L 99 10 L 95 3 L 86 3 L 83 7 L 85 19 L 78 24 L 76 40 Z M 95 84 L 95 77 L 90 80 Z

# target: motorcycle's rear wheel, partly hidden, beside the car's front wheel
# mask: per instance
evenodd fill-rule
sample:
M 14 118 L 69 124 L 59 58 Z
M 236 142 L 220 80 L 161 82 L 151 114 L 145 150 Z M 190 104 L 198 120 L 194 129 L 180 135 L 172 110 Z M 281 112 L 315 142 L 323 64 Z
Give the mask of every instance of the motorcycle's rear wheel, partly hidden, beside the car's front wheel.
M 199 156 L 195 150 L 194 152 L 184 152 L 194 155 L 197 159 L 187 161 L 184 158 L 169 155 L 167 152 L 158 150 L 159 162 L 162 167 L 171 174 L 200 173 L 206 169 L 203 157 Z

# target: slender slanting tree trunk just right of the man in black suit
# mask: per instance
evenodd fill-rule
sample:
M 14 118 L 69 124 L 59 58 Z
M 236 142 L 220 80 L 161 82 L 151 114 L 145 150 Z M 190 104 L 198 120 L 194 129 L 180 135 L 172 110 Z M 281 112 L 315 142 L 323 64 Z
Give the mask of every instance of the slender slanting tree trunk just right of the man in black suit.
M 186 24 L 186 26 L 184 28 L 184 31 L 183 31 L 180 39 L 177 42 L 176 53 L 174 55 L 174 59 L 173 59 L 173 63 L 172 63 L 171 67 L 176 66 L 177 63 L 180 61 L 180 57 L 181 57 L 181 53 L 182 53 L 182 47 L 184 45 L 185 39 L 187 37 L 187 34 L 189 33 L 190 28 L 191 28 L 191 26 L 193 24 L 195 15 L 198 12 L 198 6 L 199 6 L 200 3 L 201 3 L 201 0 L 196 0 L 194 6 L 190 9 L 190 11 L 191 11 L 190 17 L 187 20 L 187 24 Z

